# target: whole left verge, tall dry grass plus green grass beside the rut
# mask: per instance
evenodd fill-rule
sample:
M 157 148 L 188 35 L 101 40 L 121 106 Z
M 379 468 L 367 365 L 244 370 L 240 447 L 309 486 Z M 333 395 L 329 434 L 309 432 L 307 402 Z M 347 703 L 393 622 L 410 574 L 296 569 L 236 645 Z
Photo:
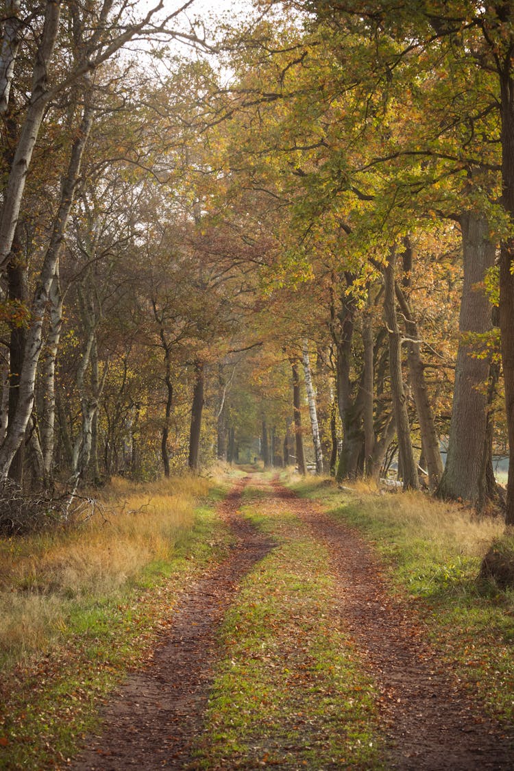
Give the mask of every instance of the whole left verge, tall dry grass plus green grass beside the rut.
M 119 480 L 104 493 L 108 522 L 2 543 L 0 768 L 66 763 L 96 729 L 102 699 L 151 657 L 181 589 L 225 553 L 221 494 L 206 480 Z M 16 625 L 25 639 L 8 632 Z

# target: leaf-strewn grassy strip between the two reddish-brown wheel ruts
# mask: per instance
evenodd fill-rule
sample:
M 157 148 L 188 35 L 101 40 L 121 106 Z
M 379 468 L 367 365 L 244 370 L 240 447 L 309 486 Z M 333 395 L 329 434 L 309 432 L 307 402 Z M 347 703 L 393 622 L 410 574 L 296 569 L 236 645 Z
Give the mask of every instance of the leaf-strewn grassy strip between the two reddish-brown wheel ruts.
M 244 498 L 245 515 L 277 547 L 247 576 L 223 625 L 228 654 L 200 767 L 381 768 L 375 693 L 339 624 L 326 550 L 287 510 L 270 510 L 262 490 Z

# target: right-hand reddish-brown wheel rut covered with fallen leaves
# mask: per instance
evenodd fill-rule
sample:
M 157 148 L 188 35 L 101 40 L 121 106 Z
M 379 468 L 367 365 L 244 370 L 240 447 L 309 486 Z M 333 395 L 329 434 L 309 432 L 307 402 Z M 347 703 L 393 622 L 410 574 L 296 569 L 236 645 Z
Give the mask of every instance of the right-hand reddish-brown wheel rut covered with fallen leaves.
M 340 612 L 381 692 L 391 768 L 412 771 L 514 769 L 512 736 L 487 718 L 428 644 L 406 602 L 391 598 L 368 544 L 315 503 L 274 481 L 274 494 L 324 543 Z

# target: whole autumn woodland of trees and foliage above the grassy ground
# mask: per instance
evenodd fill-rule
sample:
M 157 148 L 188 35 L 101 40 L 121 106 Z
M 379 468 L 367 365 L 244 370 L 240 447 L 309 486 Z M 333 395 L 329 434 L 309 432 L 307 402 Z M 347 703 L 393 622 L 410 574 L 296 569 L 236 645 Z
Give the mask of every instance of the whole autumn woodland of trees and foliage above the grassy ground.
M 162 5 L 5 2 L 4 533 L 307 438 L 514 524 L 512 3 Z

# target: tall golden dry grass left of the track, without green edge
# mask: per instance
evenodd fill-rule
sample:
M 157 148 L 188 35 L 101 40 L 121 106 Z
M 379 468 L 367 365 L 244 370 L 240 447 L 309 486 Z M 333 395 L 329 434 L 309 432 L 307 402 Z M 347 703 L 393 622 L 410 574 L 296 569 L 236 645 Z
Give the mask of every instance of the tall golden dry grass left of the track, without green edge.
M 115 479 L 99 496 L 104 516 L 75 530 L 0 540 L 0 655 L 45 649 L 66 629 L 74 602 L 112 595 L 169 558 L 209 487 L 190 476 L 144 486 Z

